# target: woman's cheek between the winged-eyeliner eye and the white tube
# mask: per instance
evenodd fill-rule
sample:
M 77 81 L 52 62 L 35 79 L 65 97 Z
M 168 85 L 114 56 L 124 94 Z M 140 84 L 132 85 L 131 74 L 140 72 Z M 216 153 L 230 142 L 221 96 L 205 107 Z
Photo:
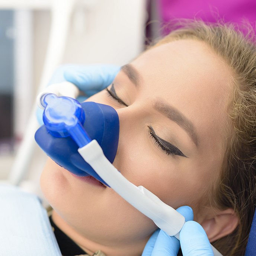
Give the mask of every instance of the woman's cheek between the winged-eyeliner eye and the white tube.
M 198 169 L 192 159 L 167 156 L 150 143 L 138 143 L 138 139 L 127 137 L 129 140 L 121 138 L 113 163 L 122 175 L 136 186 L 144 186 L 173 208 L 182 205 L 196 208 L 207 195 L 204 188 L 210 185 L 209 180 L 200 175 L 202 168 Z

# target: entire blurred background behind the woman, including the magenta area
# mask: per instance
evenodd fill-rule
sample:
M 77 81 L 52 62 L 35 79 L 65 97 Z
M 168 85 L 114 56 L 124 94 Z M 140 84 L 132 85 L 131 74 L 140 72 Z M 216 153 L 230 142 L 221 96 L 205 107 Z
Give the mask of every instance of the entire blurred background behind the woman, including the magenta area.
M 0 182 L 40 195 L 46 156 L 33 141 L 34 106 L 55 68 L 124 65 L 169 32 L 161 27 L 175 18 L 249 21 L 255 28 L 256 1 L 0 0 Z

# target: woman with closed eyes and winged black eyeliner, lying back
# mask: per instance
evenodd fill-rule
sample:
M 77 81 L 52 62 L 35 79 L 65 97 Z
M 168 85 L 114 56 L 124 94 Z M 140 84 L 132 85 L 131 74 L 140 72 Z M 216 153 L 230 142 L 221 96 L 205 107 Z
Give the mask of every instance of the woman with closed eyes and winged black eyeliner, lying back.
M 255 46 L 232 26 L 194 22 L 89 98 L 118 112 L 113 165 L 173 208 L 192 207 L 225 255 L 244 253 L 255 210 L 255 64 Z M 88 254 L 141 255 L 157 228 L 111 188 L 52 160 L 41 187 L 52 223 Z

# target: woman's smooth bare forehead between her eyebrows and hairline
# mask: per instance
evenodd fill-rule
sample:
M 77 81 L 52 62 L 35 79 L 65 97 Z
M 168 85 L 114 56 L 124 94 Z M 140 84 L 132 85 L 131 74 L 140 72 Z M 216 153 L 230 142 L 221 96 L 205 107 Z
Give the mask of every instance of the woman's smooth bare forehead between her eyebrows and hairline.
M 131 64 L 142 76 L 144 95 L 163 98 L 179 109 L 194 123 L 199 138 L 213 143 L 223 134 L 231 70 L 204 42 L 185 39 L 163 44 Z

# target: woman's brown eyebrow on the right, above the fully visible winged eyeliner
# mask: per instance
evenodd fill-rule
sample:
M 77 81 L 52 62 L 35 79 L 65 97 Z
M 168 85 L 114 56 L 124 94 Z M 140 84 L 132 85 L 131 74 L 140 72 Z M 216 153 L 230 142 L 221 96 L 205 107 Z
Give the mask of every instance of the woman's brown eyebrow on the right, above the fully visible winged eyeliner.
M 186 116 L 184 116 L 175 107 L 163 102 L 160 99 L 154 103 L 154 109 L 163 113 L 165 116 L 183 128 L 188 133 L 189 137 L 191 137 L 196 147 L 198 147 L 198 136 L 196 134 L 195 127 L 193 123 L 188 118 L 186 118 Z

